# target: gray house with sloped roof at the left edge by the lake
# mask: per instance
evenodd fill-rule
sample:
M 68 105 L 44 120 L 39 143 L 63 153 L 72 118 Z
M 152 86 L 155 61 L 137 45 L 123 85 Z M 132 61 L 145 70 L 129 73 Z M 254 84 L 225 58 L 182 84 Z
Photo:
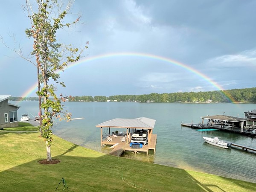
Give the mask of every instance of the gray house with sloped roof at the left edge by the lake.
M 17 110 L 20 106 L 10 104 L 11 95 L 0 95 L 0 129 L 18 126 Z

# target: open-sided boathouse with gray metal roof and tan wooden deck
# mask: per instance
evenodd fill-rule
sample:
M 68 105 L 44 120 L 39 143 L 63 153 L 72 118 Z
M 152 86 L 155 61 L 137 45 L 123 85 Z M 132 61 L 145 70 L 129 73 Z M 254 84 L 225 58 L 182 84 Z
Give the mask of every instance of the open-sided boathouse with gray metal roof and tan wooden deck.
M 139 117 L 136 119 L 112 119 L 106 122 L 102 122 L 96 127 L 101 128 L 101 145 L 115 145 L 110 154 L 120 156 L 123 151 L 134 151 L 135 154 L 139 151 L 146 152 L 148 154 L 148 150 L 154 150 L 156 148 L 157 135 L 153 134 L 153 129 L 156 120 L 149 119 L 146 117 Z M 112 133 L 107 135 L 108 137 L 104 137 L 103 128 L 108 129 L 108 133 Z M 122 129 L 121 131 L 117 131 L 116 129 Z M 137 129 L 144 129 L 148 131 L 148 143 L 147 145 L 143 145 L 141 148 L 133 148 L 130 146 L 131 135 Z

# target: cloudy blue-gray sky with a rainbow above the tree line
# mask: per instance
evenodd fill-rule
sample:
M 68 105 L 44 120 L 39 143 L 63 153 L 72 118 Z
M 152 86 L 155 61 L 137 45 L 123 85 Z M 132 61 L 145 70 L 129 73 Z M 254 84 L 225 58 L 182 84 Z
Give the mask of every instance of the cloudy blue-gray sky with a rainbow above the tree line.
M 33 2 L 33 0 L 32 0 Z M 67 2 L 64 0 L 63 2 Z M 36 96 L 26 0 L 0 6 L 0 95 Z M 76 0 L 80 22 L 57 40 L 88 49 L 59 73 L 64 96 L 142 95 L 256 87 L 255 0 Z M 32 58 L 33 59 L 33 58 Z M 32 60 L 33 61 L 33 60 Z M 34 62 L 34 61 L 33 61 Z M 52 82 L 52 81 L 50 81 Z

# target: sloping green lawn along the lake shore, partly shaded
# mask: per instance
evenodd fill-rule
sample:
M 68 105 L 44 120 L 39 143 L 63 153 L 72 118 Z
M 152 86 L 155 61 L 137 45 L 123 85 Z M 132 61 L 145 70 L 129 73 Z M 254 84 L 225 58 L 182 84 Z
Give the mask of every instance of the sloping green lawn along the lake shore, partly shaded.
M 256 191 L 256 183 L 114 157 L 53 139 L 52 158 L 61 163 L 42 165 L 38 161 L 46 158 L 46 147 L 39 133 L 0 133 L 0 191 L 52 192 L 62 178 L 70 192 Z M 56 191 L 62 189 L 61 182 Z

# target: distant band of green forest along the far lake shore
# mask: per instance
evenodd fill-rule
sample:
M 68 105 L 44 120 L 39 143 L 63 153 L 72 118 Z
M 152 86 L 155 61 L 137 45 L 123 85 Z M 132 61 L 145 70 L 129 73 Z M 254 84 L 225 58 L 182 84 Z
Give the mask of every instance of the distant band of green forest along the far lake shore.
M 256 102 L 256 87 L 231 90 L 183 93 L 150 93 L 145 95 L 69 96 L 70 102 Z M 38 97 L 10 97 L 11 101 L 37 100 Z

